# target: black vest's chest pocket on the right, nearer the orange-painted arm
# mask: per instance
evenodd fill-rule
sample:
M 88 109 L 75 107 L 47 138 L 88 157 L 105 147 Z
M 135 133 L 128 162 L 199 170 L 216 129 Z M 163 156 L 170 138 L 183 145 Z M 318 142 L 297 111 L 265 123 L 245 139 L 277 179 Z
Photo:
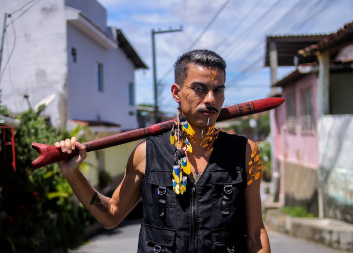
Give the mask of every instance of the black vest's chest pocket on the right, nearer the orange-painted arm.
M 222 214 L 229 215 L 231 205 L 236 203 L 238 192 L 242 187 L 241 169 L 233 171 L 216 170 L 212 175 L 212 204 L 222 206 Z

